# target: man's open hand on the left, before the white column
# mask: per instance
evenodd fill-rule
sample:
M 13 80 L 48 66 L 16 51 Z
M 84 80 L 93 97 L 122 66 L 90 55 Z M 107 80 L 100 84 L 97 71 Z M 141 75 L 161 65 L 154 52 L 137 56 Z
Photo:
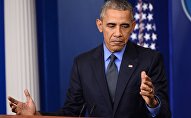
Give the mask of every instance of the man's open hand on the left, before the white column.
M 24 93 L 27 98 L 27 101 L 25 103 L 15 100 L 10 96 L 8 97 L 12 112 L 16 113 L 17 115 L 35 115 L 36 113 L 35 103 L 31 98 L 27 89 L 25 89 Z

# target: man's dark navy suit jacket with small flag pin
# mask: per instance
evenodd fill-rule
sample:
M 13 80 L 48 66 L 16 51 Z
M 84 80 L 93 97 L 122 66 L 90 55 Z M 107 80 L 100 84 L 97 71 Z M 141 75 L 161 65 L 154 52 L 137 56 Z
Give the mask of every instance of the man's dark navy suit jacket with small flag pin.
M 133 65 L 133 67 L 129 67 Z M 140 92 L 141 71 L 151 77 L 156 96 L 161 101 L 157 117 L 169 118 L 167 81 L 161 55 L 128 41 L 112 103 L 105 77 L 103 45 L 79 55 L 74 60 L 71 83 L 64 107 L 56 115 L 86 114 L 109 118 L 149 118 Z

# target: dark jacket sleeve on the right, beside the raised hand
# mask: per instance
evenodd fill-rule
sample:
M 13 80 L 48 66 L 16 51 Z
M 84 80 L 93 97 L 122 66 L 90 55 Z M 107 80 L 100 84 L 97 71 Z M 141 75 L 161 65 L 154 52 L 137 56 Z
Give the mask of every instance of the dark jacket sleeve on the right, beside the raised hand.
M 171 118 L 168 98 L 168 83 L 163 58 L 160 53 L 156 53 L 154 56 L 148 75 L 152 79 L 152 83 L 155 87 L 155 95 L 158 96 L 161 101 L 161 107 L 157 118 Z

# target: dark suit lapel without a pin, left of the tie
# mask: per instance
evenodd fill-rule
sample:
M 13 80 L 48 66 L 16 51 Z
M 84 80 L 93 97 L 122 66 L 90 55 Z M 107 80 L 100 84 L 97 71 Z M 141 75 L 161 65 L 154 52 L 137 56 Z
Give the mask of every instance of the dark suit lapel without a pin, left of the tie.
M 112 104 L 110 100 L 109 90 L 107 86 L 107 80 L 105 78 L 105 66 L 104 66 L 104 53 L 103 53 L 103 45 L 100 45 L 95 53 L 93 53 L 93 63 L 92 68 L 96 75 L 96 80 L 101 89 L 103 96 L 105 97 L 106 103 L 108 104 L 110 110 L 112 111 Z

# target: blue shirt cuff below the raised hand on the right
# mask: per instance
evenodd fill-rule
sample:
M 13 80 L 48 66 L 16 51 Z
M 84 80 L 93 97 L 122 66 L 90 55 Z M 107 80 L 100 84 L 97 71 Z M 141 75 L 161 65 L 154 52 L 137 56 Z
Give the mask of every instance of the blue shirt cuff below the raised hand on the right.
M 155 98 L 156 98 L 157 101 L 159 102 L 159 104 L 158 104 L 157 107 L 151 108 L 151 107 L 149 107 L 149 106 L 146 104 L 147 109 L 148 109 L 149 112 L 151 113 L 151 116 L 152 116 L 152 117 L 156 117 L 156 116 L 157 116 L 157 114 L 159 113 L 160 107 L 161 107 L 161 101 L 160 101 L 160 99 L 159 99 L 157 96 L 155 96 Z

